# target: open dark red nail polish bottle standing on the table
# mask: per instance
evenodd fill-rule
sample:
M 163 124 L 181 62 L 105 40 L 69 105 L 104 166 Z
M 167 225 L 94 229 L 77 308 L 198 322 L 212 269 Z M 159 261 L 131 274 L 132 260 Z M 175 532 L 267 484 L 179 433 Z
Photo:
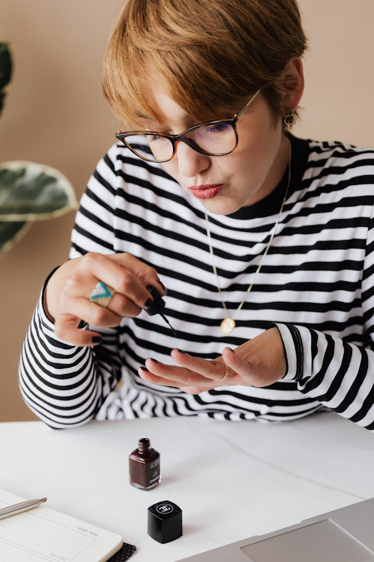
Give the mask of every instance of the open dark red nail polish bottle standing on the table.
M 130 484 L 140 490 L 150 490 L 160 482 L 160 454 L 147 437 L 139 439 L 128 457 L 128 469 Z

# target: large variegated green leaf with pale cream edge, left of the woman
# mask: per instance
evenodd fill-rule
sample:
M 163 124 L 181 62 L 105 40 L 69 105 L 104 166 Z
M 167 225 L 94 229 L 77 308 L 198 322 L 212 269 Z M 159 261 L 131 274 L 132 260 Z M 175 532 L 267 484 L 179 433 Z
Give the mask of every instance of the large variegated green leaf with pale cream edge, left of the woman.
M 77 209 L 74 189 L 60 171 L 26 161 L 0 164 L 0 220 L 34 221 Z

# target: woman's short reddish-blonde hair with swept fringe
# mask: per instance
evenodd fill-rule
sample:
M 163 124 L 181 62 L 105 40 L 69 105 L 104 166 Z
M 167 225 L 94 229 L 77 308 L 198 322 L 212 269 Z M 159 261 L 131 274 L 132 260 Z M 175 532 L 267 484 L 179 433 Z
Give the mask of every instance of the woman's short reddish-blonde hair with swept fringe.
M 102 91 L 124 123 L 139 126 L 139 111 L 162 123 L 146 93 L 147 63 L 197 120 L 222 117 L 220 109 L 260 88 L 278 117 L 292 87 L 285 67 L 305 49 L 295 0 L 124 0 L 103 59 Z

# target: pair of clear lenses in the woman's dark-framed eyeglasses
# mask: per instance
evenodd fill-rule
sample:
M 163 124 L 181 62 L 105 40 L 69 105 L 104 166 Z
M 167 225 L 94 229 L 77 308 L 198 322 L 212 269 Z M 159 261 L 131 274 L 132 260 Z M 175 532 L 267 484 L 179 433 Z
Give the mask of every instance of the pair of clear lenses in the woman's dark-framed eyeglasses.
M 192 148 L 198 147 L 207 154 L 220 155 L 236 147 L 236 134 L 230 123 L 204 124 L 192 129 L 184 137 Z M 167 137 L 155 133 L 127 136 L 131 149 L 141 158 L 167 161 L 173 157 L 173 143 Z M 135 141 L 135 142 L 133 142 Z

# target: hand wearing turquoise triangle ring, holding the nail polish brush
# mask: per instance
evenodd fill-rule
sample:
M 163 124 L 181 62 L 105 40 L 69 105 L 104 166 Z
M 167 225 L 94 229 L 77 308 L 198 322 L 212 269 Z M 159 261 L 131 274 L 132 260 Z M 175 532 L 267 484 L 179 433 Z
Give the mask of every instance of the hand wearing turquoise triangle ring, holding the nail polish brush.
M 89 300 L 99 281 L 116 291 L 108 308 Z M 123 316 L 133 318 L 151 306 L 149 285 L 161 296 L 166 294 L 156 270 L 131 254 L 90 252 L 54 272 L 45 289 L 44 309 L 54 321 L 58 338 L 75 346 L 92 346 L 100 342 L 100 334 L 81 330 L 81 320 L 95 326 L 118 326 Z

